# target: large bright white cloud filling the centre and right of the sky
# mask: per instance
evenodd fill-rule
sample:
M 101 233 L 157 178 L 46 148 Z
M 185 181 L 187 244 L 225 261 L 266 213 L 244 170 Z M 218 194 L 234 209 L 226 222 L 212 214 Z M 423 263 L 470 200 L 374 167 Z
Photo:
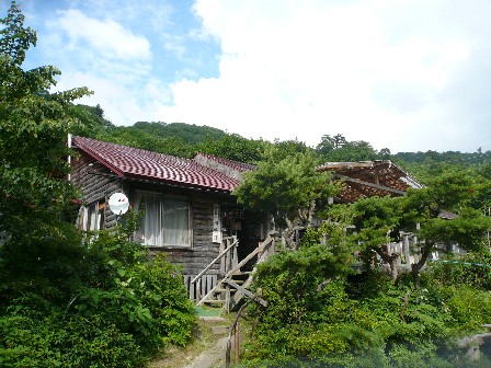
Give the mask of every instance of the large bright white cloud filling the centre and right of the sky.
M 443 110 L 448 105 L 436 104 L 473 43 L 466 33 L 447 32 L 459 20 L 455 13 L 438 18 L 448 15 L 449 4 L 197 0 L 194 10 L 203 33 L 220 41 L 220 76 L 173 83 L 174 103 L 162 107 L 163 120 L 248 138 L 298 137 L 311 146 L 342 133 L 395 151 L 458 147 L 450 138 L 461 133 L 458 122 Z M 393 16 L 406 11 L 413 23 L 397 30 Z M 446 140 L 420 137 L 445 128 Z

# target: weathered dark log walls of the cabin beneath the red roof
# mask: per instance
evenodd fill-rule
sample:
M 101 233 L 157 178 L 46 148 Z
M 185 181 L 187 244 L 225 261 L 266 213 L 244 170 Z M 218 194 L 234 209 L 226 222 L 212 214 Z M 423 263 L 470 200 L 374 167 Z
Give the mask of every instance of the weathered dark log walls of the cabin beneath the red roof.
M 90 204 L 94 200 L 104 199 L 105 204 L 110 196 L 116 192 L 125 193 L 129 198 L 130 206 L 135 205 L 137 191 L 148 191 L 168 195 L 182 196 L 190 203 L 192 246 L 174 249 L 172 246 L 151 246 L 152 254 L 164 252 L 169 262 L 182 267 L 185 280 L 193 279 L 207 264 L 219 253 L 219 243 L 213 243 L 214 205 L 235 207 L 233 197 L 227 193 L 196 189 L 187 186 L 168 185 L 164 183 L 118 177 L 107 168 L 91 157 L 80 153 L 72 160 L 71 181 L 83 194 L 83 203 Z M 104 229 L 111 229 L 116 225 L 116 216 L 105 206 Z M 190 290 L 195 294 L 206 294 L 216 284 L 220 273 L 219 262 L 207 273 L 207 283 L 202 285 L 203 290 Z M 207 285 L 209 284 L 209 285 Z

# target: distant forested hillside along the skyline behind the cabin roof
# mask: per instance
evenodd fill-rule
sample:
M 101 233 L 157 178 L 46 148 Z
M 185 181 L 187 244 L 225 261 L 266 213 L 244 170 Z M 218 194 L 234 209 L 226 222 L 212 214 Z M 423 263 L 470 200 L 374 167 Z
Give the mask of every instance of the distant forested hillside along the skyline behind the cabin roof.
M 267 142 L 253 140 L 236 134 L 185 123 L 137 122 L 133 126 L 116 126 L 104 118 L 101 106 L 76 105 L 77 117 L 83 123 L 77 135 L 158 151 L 178 157 L 192 157 L 195 151 L 204 151 L 224 158 L 256 163 L 261 152 L 271 145 L 289 145 L 290 152 L 313 150 L 321 161 L 367 161 L 392 160 L 404 169 L 421 172 L 423 168 L 444 164 L 480 165 L 491 161 L 491 151 L 477 148 L 476 152 L 390 152 L 379 151 L 364 140 L 347 141 L 342 134 L 319 137 L 316 147 L 307 147 L 297 140 Z

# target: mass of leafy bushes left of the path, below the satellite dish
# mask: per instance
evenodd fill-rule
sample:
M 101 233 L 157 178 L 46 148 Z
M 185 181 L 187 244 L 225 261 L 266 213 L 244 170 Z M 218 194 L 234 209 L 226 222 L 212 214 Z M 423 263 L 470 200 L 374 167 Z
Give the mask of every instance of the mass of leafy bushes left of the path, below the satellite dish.
M 195 317 L 180 269 L 128 232 L 0 248 L 2 367 L 138 367 L 187 342 Z

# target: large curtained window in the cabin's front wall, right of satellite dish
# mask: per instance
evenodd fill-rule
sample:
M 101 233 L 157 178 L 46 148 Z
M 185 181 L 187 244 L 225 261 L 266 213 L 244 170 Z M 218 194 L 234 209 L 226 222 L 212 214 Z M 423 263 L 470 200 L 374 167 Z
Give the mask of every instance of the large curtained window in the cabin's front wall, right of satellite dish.
M 136 192 L 136 210 L 144 212 L 135 240 L 152 246 L 191 246 L 190 204 L 179 197 Z

